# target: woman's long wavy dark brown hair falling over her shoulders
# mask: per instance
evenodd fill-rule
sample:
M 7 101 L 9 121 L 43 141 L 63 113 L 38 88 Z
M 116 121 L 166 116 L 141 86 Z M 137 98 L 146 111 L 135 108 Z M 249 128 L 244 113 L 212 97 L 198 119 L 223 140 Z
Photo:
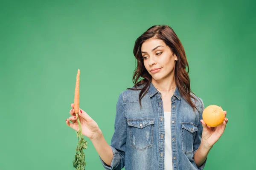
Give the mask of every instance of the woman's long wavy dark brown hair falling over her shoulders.
M 189 63 L 186 59 L 186 53 L 181 44 L 179 38 L 173 31 L 170 26 L 158 25 L 148 28 L 140 37 L 137 38 L 134 44 L 134 56 L 137 59 L 137 68 L 134 70 L 133 82 L 135 88 L 127 88 L 131 90 L 141 90 L 139 94 L 139 101 L 141 106 L 141 99 L 145 96 L 148 91 L 148 87 L 151 83 L 152 77 L 146 70 L 143 58 L 141 54 L 141 45 L 143 42 L 150 38 L 163 40 L 166 45 L 172 50 L 172 53 L 176 54 L 178 60 L 175 64 L 175 83 L 176 87 L 179 89 L 181 96 L 189 103 L 189 105 L 195 111 L 195 104 L 192 102 L 192 99 L 195 99 L 194 94 L 190 89 L 190 80 L 189 80 Z M 186 67 L 188 71 L 186 71 Z M 140 77 L 144 78 L 141 79 Z M 143 88 L 138 88 L 140 85 L 145 85 Z M 145 92 L 145 93 L 144 93 Z M 197 100 L 197 99 L 195 99 Z

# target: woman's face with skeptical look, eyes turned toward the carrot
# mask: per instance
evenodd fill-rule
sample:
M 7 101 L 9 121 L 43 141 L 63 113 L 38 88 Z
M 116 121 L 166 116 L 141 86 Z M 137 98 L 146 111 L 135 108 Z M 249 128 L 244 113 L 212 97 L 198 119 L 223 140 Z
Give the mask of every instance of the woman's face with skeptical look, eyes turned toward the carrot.
M 154 80 L 165 79 L 174 75 L 175 60 L 169 46 L 163 40 L 148 39 L 141 46 L 141 54 L 146 70 Z

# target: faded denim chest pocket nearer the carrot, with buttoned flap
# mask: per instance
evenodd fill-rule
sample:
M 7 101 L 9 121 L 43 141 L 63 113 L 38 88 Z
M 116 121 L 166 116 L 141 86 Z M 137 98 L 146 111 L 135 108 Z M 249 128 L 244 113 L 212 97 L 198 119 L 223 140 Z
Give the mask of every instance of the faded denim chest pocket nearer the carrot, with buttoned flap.
M 128 119 L 130 146 L 137 150 L 153 147 L 154 119 Z

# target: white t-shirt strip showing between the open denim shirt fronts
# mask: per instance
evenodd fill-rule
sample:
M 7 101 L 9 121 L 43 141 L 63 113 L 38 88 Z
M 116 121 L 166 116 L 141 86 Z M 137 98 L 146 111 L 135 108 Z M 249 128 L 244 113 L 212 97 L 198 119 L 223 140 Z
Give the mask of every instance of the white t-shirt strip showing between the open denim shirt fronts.
M 172 170 L 171 112 L 164 111 L 164 169 Z

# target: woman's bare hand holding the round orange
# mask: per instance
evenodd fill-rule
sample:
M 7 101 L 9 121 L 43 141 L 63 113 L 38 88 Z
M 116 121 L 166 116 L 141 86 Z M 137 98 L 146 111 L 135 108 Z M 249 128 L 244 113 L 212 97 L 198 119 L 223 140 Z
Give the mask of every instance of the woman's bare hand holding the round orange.
M 201 123 L 203 125 L 202 139 L 201 143 L 204 144 L 205 147 L 211 148 L 213 144 L 215 144 L 218 139 L 220 139 L 221 135 L 224 133 L 226 128 L 228 119 L 226 117 L 227 111 L 224 111 L 225 119 L 221 125 L 217 127 L 209 127 L 206 125 L 203 119 L 201 119 Z

